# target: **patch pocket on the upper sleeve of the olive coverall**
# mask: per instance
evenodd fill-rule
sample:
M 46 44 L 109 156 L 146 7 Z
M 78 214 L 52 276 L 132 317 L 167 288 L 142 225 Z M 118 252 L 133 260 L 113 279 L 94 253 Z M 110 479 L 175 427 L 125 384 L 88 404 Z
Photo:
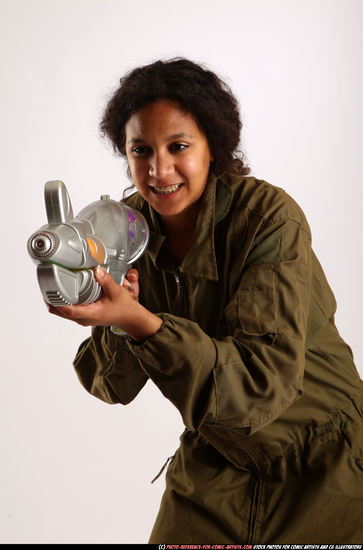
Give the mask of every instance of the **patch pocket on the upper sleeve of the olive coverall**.
M 276 334 L 276 271 L 274 264 L 250 266 L 225 310 L 232 329 L 247 335 Z

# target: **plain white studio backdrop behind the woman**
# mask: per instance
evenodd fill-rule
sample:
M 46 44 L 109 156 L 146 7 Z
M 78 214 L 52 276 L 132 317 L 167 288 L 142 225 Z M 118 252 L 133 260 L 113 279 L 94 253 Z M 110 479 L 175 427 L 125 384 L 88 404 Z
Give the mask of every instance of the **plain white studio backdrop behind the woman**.
M 151 382 L 127 407 L 79 384 L 72 359 L 89 329 L 48 314 L 26 252 L 46 222 L 44 183 L 63 180 L 75 213 L 100 194 L 120 198 L 124 164 L 98 132 L 118 79 L 157 58 L 207 63 L 241 103 L 252 173 L 305 211 L 362 375 L 363 2 L 0 0 L 0 9 L 0 543 L 147 542 L 164 476 L 150 481 L 183 426 Z

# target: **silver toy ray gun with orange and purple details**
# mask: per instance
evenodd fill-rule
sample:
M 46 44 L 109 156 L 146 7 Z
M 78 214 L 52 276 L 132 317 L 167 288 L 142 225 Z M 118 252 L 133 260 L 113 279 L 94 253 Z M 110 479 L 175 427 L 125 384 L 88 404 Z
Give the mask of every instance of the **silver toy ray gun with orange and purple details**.
M 44 200 L 48 224 L 28 239 L 44 300 L 53 306 L 95 302 L 102 295 L 93 273 L 98 265 L 121 285 L 148 244 L 143 215 L 102 195 L 74 217 L 61 181 L 45 184 Z

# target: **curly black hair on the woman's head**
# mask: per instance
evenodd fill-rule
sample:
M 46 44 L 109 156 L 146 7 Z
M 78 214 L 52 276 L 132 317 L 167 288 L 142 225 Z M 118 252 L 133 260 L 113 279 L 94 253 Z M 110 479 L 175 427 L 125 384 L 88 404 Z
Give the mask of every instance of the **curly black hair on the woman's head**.
M 132 114 L 160 99 L 176 102 L 194 117 L 207 138 L 217 176 L 250 172 L 238 148 L 242 123 L 237 99 L 216 74 L 182 57 L 137 67 L 120 79 L 100 123 L 116 153 L 126 157 L 125 125 Z

